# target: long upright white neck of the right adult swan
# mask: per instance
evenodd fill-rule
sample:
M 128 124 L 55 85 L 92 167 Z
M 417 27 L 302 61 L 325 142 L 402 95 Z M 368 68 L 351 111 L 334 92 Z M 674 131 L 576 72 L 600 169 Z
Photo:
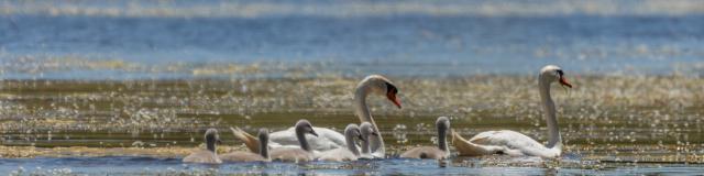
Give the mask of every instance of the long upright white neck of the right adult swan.
M 560 130 L 558 129 L 558 120 L 556 117 L 554 102 L 550 96 L 550 81 L 542 75 L 539 77 L 540 99 L 542 101 L 542 108 L 546 114 L 546 121 L 548 124 L 548 144 L 547 147 L 562 147 L 562 138 L 560 136 Z

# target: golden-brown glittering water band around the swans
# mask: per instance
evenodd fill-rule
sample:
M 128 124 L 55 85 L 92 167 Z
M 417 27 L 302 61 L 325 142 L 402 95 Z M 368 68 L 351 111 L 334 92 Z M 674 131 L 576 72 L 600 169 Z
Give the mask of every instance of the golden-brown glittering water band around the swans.
M 403 169 L 407 165 L 397 160 L 375 162 L 378 168 L 374 169 L 328 170 L 273 164 L 276 169 L 263 170 L 312 174 L 482 174 L 498 170 L 519 174 L 554 172 L 548 168 L 559 167 L 560 174 L 701 172 L 704 136 L 703 122 L 697 117 L 704 106 L 698 91 L 704 88 L 703 80 L 681 76 L 571 75 L 571 78 L 578 85 L 575 88 L 562 91 L 561 87 L 553 87 L 560 131 L 565 142 L 565 157 L 553 165 L 502 157 L 470 157 L 457 160 L 454 163 L 460 166 L 449 168 L 427 161 L 410 162 L 428 167 L 418 170 Z M 250 132 L 258 128 L 283 130 L 305 118 L 314 125 L 341 130 L 345 124 L 359 121 L 351 109 L 351 91 L 358 79 L 6 80 L 1 95 L 1 113 L 6 118 L 1 128 L 2 144 L 8 147 L 0 150 L 3 151 L 0 155 L 38 157 L 38 163 L 32 166 L 24 166 L 31 164 L 22 164 L 22 161 L 34 160 L 8 160 L 10 165 L 4 169 L 11 170 L 19 166 L 58 168 L 52 167 L 54 164 L 51 163 L 56 160 L 65 163 L 61 160 L 66 157 L 91 162 L 106 160 L 102 157 L 138 156 L 136 160 L 154 162 L 154 166 L 148 166 L 153 170 L 136 169 L 129 162 L 120 164 L 124 165 L 120 169 L 160 173 L 169 172 L 166 169 L 172 167 L 177 172 L 241 173 L 248 165 L 189 170 L 194 167 L 182 166 L 178 158 L 201 145 L 202 131 L 207 128 L 220 130 L 228 146 L 220 152 L 243 150 L 229 127 Z M 451 117 L 451 127 L 465 136 L 501 127 L 538 141 L 547 140 L 534 77 L 392 79 L 398 85 L 403 109 L 377 96 L 369 100 L 392 158 L 415 145 L 432 145 L 432 124 L 439 116 Z M 614 88 L 613 85 L 619 86 Z M 472 167 L 463 165 L 466 162 Z M 97 164 L 96 167 L 111 165 Z M 77 173 L 94 169 L 74 167 L 70 162 L 64 166 Z

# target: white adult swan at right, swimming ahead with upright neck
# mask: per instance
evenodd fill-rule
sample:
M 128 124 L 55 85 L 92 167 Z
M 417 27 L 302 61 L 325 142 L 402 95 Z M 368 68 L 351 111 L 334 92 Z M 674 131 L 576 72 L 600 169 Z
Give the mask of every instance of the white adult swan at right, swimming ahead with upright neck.
M 509 130 L 482 132 L 469 141 L 453 131 L 452 143 L 459 152 L 459 155 L 508 154 L 512 156 L 560 156 L 562 153 L 562 139 L 558 129 L 558 120 L 556 119 L 554 102 L 552 102 L 552 98 L 550 97 L 550 85 L 554 81 L 572 88 L 572 85 L 568 82 L 560 67 L 548 65 L 540 69 L 538 88 L 540 89 L 540 98 L 548 123 L 549 141 L 547 145 L 542 145 L 529 136 Z

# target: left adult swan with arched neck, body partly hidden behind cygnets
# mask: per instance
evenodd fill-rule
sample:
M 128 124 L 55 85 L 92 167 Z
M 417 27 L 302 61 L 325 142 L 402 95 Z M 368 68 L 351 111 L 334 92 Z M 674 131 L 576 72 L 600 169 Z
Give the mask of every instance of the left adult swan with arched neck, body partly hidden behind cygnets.
M 378 127 L 376 122 L 372 118 L 372 113 L 370 112 L 369 107 L 366 106 L 366 97 L 371 94 L 383 95 L 392 101 L 396 107 L 400 109 L 400 100 L 396 95 L 398 94 L 398 89 L 394 84 L 387 78 L 380 75 L 370 75 L 364 78 L 360 84 L 358 84 L 354 89 L 354 113 L 360 118 L 361 122 L 370 122 L 374 127 L 374 131 L 378 132 Z M 246 132 L 240 129 L 231 129 L 234 135 L 244 141 L 244 144 L 252 151 L 258 152 L 258 141 L 253 135 L 248 134 Z M 310 143 L 314 152 L 322 152 L 329 151 L 333 148 L 346 148 L 344 135 L 334 130 L 326 129 L 326 128 L 314 128 L 314 130 L 319 134 L 318 138 L 306 136 L 307 141 Z M 288 130 L 278 131 L 270 134 L 270 146 L 271 147 L 286 147 L 286 146 L 297 146 L 298 141 L 296 140 L 296 132 L 294 128 L 289 128 Z M 370 136 L 370 151 L 374 157 L 384 157 L 384 140 L 382 135 Z

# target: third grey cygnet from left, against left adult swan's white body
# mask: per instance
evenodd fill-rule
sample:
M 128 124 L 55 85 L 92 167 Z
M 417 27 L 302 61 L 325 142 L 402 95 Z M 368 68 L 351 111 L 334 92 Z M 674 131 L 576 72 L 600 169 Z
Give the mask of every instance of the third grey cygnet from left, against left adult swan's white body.
M 298 143 L 300 147 L 276 147 L 272 150 L 271 157 L 272 161 L 283 161 L 283 162 L 311 162 L 314 160 L 314 154 L 310 148 L 310 144 L 306 140 L 306 134 L 312 134 L 318 136 L 316 131 L 312 129 L 312 125 L 308 120 L 299 120 L 296 123 L 296 139 L 298 139 Z

